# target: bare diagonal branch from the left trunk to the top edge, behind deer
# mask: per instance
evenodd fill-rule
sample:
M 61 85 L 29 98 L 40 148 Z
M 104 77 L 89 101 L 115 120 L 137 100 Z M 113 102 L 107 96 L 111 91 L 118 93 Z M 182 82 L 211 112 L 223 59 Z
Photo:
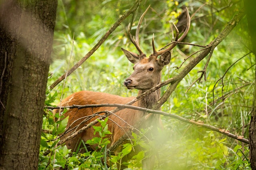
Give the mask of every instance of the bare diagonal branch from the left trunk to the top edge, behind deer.
M 137 0 L 132 8 L 130 8 L 126 13 L 124 13 L 118 20 L 111 26 L 111 28 L 106 32 L 106 34 L 96 43 L 96 45 L 82 58 L 80 61 L 78 61 L 69 71 L 68 73 L 64 73 L 61 77 L 59 77 L 52 85 L 50 86 L 50 89 L 52 90 L 56 85 L 58 85 L 64 78 L 65 76 L 69 76 L 73 71 L 75 71 L 86 59 L 88 59 L 97 49 L 102 45 L 102 43 L 108 38 L 108 36 L 116 30 L 116 28 L 121 24 L 121 22 L 127 18 L 130 14 L 134 13 L 138 6 L 140 5 L 140 2 L 142 0 Z

